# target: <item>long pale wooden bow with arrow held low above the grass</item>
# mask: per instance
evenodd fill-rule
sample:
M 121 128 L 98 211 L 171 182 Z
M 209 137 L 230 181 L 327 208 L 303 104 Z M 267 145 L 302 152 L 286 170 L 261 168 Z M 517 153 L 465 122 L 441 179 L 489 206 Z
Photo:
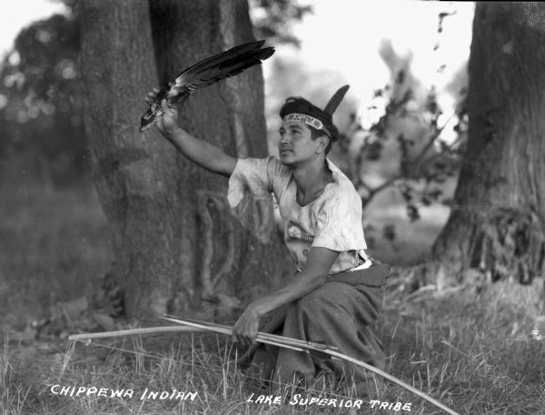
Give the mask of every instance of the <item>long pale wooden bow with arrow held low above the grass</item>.
M 163 327 L 147 327 L 147 328 L 140 328 L 140 329 L 127 329 L 127 330 L 119 330 L 119 331 L 103 331 L 98 333 L 73 334 L 68 337 L 68 340 L 90 341 L 91 339 L 99 339 L 99 338 L 106 338 L 106 337 L 121 337 L 121 336 L 134 335 L 134 334 L 150 334 L 150 333 L 156 333 L 156 332 L 181 332 L 181 331 L 182 332 L 211 332 L 212 331 L 219 334 L 225 334 L 228 336 L 231 336 L 233 334 L 233 327 L 230 327 L 224 324 L 211 323 L 207 321 L 188 320 L 188 319 L 182 320 L 168 314 L 163 314 L 159 316 L 159 318 L 165 321 L 174 322 L 178 325 L 163 326 Z M 431 396 L 426 395 L 421 390 L 417 390 L 416 388 L 413 388 L 411 385 L 409 385 L 408 383 L 405 383 L 403 380 L 397 379 L 395 376 L 392 376 L 390 373 L 381 371 L 380 369 L 375 368 L 374 366 L 371 366 L 370 364 L 365 363 L 364 361 L 359 361 L 350 356 L 347 356 L 346 354 L 341 353 L 334 347 L 327 346 L 320 343 L 314 343 L 312 341 L 302 341 L 298 339 L 292 339 L 290 337 L 278 336 L 275 334 L 265 333 L 263 331 L 257 332 L 257 336 L 255 340 L 260 341 L 262 343 L 271 344 L 276 347 L 291 349 L 293 351 L 319 352 L 333 359 L 340 359 L 342 361 L 350 362 L 368 371 L 372 371 L 373 373 L 381 376 L 382 378 L 391 380 L 393 383 L 396 383 L 399 386 L 401 386 L 401 388 L 410 390 L 415 395 L 418 395 L 422 399 L 427 400 L 428 402 L 430 402 L 432 405 L 436 406 L 437 408 L 444 410 L 446 413 L 449 413 L 451 415 L 460 415 L 458 412 L 455 412 L 454 410 L 451 410 L 449 407 L 443 405 L 439 400 L 435 400 L 431 398 Z

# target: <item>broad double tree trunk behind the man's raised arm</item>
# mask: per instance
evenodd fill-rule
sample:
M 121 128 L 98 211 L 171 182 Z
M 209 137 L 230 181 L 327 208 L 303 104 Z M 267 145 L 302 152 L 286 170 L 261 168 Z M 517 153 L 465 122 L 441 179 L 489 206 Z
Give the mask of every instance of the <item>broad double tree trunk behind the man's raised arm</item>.
M 125 311 L 206 309 L 227 317 L 287 271 L 272 210 L 252 206 L 240 226 L 226 203 L 227 180 L 188 162 L 155 128 L 142 134 L 137 126 L 144 95 L 159 81 L 253 40 L 247 5 L 87 0 L 80 7 L 85 125 Z M 184 129 L 227 153 L 266 155 L 259 68 L 199 91 L 180 114 Z

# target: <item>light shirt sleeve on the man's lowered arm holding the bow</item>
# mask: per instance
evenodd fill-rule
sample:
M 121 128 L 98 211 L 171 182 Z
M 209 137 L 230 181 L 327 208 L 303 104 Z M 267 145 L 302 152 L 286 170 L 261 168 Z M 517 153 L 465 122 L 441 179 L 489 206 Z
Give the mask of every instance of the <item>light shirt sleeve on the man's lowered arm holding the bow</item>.
M 316 214 L 312 246 L 332 251 L 362 251 L 367 248 L 363 237 L 362 200 L 351 194 L 336 194 Z

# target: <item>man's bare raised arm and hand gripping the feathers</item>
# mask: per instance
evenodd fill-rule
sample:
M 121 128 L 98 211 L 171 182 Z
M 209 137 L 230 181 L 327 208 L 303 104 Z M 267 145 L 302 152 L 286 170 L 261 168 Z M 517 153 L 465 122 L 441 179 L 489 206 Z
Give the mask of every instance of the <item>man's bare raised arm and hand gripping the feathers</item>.
M 149 93 L 149 96 L 154 97 L 157 92 L 158 90 L 154 90 L 154 93 Z M 148 102 L 148 99 L 146 98 L 146 102 Z M 156 125 L 163 136 L 193 163 L 200 165 L 209 172 L 230 177 L 236 166 L 237 159 L 224 153 L 221 148 L 204 140 L 199 140 L 183 131 L 176 122 L 178 118 L 176 110 L 169 108 L 165 100 L 162 101 L 161 107 L 164 114 Z

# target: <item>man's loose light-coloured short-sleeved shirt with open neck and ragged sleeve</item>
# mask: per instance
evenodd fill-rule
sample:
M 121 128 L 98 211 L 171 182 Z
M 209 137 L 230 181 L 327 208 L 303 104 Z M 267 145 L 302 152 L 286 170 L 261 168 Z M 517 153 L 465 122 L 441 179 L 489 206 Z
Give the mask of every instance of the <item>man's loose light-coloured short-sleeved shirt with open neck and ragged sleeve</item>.
M 327 159 L 326 159 L 327 160 Z M 236 207 L 246 193 L 268 198 L 273 193 L 282 217 L 284 242 L 302 271 L 312 246 L 337 251 L 329 274 L 353 270 L 368 262 L 362 228 L 362 199 L 352 182 L 329 160 L 333 183 L 311 203 L 296 201 L 297 188 L 289 167 L 275 157 L 239 159 L 229 179 L 227 199 Z

